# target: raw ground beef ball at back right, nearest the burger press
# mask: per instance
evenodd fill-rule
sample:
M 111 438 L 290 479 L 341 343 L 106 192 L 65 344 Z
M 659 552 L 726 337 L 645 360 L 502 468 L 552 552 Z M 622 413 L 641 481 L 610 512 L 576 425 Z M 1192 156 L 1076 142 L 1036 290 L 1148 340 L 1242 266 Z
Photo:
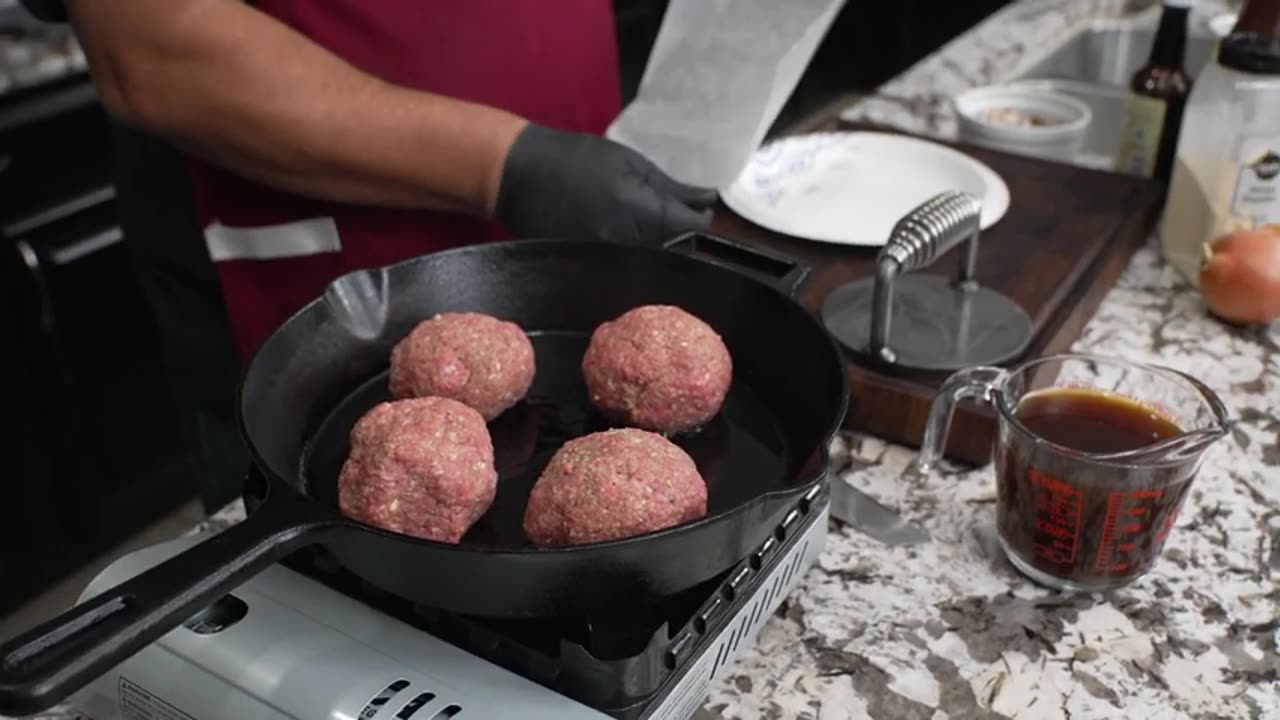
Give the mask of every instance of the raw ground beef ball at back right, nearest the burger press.
M 707 323 L 672 305 L 645 305 L 595 329 L 582 374 L 607 415 L 667 433 L 719 411 L 733 361 Z

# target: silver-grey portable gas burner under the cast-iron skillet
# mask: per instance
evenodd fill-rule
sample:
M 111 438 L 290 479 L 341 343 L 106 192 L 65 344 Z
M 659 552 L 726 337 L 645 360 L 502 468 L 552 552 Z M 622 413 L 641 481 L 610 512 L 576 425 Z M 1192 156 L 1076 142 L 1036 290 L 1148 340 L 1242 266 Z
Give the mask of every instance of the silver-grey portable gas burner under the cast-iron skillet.
M 442 614 L 307 550 L 223 596 L 73 703 L 95 720 L 686 719 L 817 560 L 827 511 L 818 484 L 716 579 L 643 610 L 571 621 Z M 200 539 L 125 556 L 84 594 Z

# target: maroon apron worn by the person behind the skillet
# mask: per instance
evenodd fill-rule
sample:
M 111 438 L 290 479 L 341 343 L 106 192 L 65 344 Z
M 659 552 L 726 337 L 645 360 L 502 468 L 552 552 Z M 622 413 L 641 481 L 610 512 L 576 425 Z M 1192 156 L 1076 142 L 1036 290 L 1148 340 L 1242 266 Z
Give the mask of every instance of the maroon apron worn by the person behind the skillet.
M 603 133 L 621 109 L 611 0 L 261 0 L 385 81 Z M 426 161 L 426 159 L 424 159 Z M 338 275 L 507 237 L 456 213 L 300 197 L 196 161 L 210 255 L 242 360 Z

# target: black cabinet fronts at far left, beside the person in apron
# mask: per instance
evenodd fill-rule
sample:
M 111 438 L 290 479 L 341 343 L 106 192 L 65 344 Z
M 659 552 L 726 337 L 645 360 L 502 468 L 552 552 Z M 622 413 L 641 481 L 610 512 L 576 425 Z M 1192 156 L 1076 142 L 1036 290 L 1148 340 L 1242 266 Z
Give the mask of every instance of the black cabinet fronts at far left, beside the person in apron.
M 193 496 L 95 105 L 0 135 L 0 612 Z M 14 548 L 22 548 L 14 551 Z

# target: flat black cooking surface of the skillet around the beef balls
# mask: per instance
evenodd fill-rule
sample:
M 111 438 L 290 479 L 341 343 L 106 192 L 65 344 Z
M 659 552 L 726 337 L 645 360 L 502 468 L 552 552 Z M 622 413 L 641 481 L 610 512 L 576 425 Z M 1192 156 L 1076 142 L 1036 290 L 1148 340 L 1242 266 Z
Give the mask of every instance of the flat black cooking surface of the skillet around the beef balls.
M 498 495 L 462 544 L 530 544 L 522 529 L 525 505 L 538 475 L 566 442 L 596 430 L 622 427 L 594 410 L 582 380 L 581 361 L 590 336 L 529 331 L 536 374 L 529 397 L 489 425 L 499 471 Z M 307 495 L 338 507 L 338 471 L 349 451 L 356 420 L 389 400 L 387 373 L 344 398 L 316 430 L 302 456 Z M 696 432 L 671 436 L 698 464 L 707 480 L 708 514 L 724 512 L 786 484 L 787 445 L 777 416 L 764 400 L 735 378 L 721 413 Z

